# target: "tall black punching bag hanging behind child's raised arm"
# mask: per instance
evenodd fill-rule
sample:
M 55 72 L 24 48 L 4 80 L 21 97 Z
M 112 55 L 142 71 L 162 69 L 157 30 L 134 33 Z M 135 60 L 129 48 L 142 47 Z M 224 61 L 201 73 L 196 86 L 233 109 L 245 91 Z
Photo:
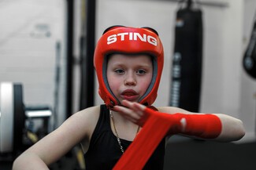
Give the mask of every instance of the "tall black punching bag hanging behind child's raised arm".
M 186 1 L 176 13 L 170 106 L 198 112 L 202 77 L 202 11 Z

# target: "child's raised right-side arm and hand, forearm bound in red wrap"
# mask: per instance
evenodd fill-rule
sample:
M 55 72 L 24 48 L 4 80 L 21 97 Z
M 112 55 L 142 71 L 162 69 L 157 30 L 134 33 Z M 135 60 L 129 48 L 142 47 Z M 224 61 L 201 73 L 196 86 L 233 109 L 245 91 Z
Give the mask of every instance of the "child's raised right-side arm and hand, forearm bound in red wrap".
M 145 106 L 139 103 L 128 102 L 127 100 L 124 100 L 122 104 L 124 105 L 124 107 L 114 108 L 124 117 L 141 126 L 145 123 L 145 121 L 147 121 L 149 114 L 147 114 L 147 112 L 145 113 Z M 176 121 L 175 128 L 171 127 L 172 129 L 170 129 L 170 132 L 175 131 L 183 135 L 199 137 L 203 139 L 208 139 L 208 136 L 210 136 L 210 139 L 222 142 L 230 142 L 241 139 L 245 134 L 242 121 L 225 114 L 204 115 L 198 113 L 191 113 L 187 110 L 176 107 L 160 107 L 158 108 L 158 111 L 161 113 L 165 113 L 167 115 L 166 118 L 170 118 L 169 120 L 171 120 L 172 123 L 173 121 Z M 176 113 L 180 114 L 175 116 Z M 168 116 L 168 114 L 173 114 L 173 116 Z M 192 114 L 195 114 L 195 116 L 193 116 Z M 184 120 L 181 121 L 182 118 L 186 119 L 185 123 Z M 202 121 L 198 121 L 198 118 L 200 118 L 200 120 Z M 214 132 L 215 127 L 217 129 L 217 132 Z M 206 129 L 206 133 L 203 132 L 204 129 Z M 213 129 L 214 134 L 211 134 L 211 129 Z M 201 133 L 202 135 L 198 135 Z

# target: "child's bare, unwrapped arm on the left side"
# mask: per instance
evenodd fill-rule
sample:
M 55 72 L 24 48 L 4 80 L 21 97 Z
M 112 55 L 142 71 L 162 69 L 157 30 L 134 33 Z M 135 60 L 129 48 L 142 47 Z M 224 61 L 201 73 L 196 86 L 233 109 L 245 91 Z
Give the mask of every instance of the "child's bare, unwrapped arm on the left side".
M 59 128 L 25 150 L 13 162 L 13 170 L 48 169 L 84 138 L 89 139 L 98 120 L 99 107 L 73 114 Z

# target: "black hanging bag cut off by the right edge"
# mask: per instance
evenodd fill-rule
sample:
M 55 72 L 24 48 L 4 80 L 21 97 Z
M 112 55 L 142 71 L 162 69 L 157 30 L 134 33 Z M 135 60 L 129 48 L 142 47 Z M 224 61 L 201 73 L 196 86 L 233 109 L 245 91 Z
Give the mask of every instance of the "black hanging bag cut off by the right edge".
M 254 16 L 255 18 L 255 16 Z M 243 56 L 243 68 L 251 78 L 256 78 L 256 20 L 250 35 L 250 42 Z

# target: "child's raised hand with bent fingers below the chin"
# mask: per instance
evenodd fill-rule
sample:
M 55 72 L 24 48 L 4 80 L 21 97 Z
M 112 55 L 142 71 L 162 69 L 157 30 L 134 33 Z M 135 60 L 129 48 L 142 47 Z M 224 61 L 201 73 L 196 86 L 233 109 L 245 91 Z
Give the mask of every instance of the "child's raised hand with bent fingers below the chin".
M 122 106 L 113 107 L 113 110 L 142 127 L 149 117 L 149 114 L 144 112 L 146 107 L 140 103 L 130 102 L 128 100 L 123 100 L 121 104 Z

